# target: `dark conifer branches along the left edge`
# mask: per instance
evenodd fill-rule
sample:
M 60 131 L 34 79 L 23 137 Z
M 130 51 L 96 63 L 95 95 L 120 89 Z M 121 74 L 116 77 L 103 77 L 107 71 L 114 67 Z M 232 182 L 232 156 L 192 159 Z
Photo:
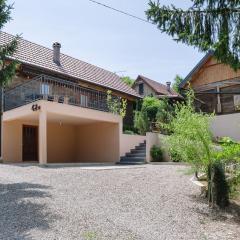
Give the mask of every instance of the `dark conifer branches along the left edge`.
M 7 4 L 6 0 L 0 0 L 0 30 L 11 20 L 13 5 Z M 1 32 L 0 32 L 1 34 Z M 0 87 L 4 87 L 15 75 L 16 61 L 8 61 L 17 49 L 18 36 L 11 42 L 0 46 Z

